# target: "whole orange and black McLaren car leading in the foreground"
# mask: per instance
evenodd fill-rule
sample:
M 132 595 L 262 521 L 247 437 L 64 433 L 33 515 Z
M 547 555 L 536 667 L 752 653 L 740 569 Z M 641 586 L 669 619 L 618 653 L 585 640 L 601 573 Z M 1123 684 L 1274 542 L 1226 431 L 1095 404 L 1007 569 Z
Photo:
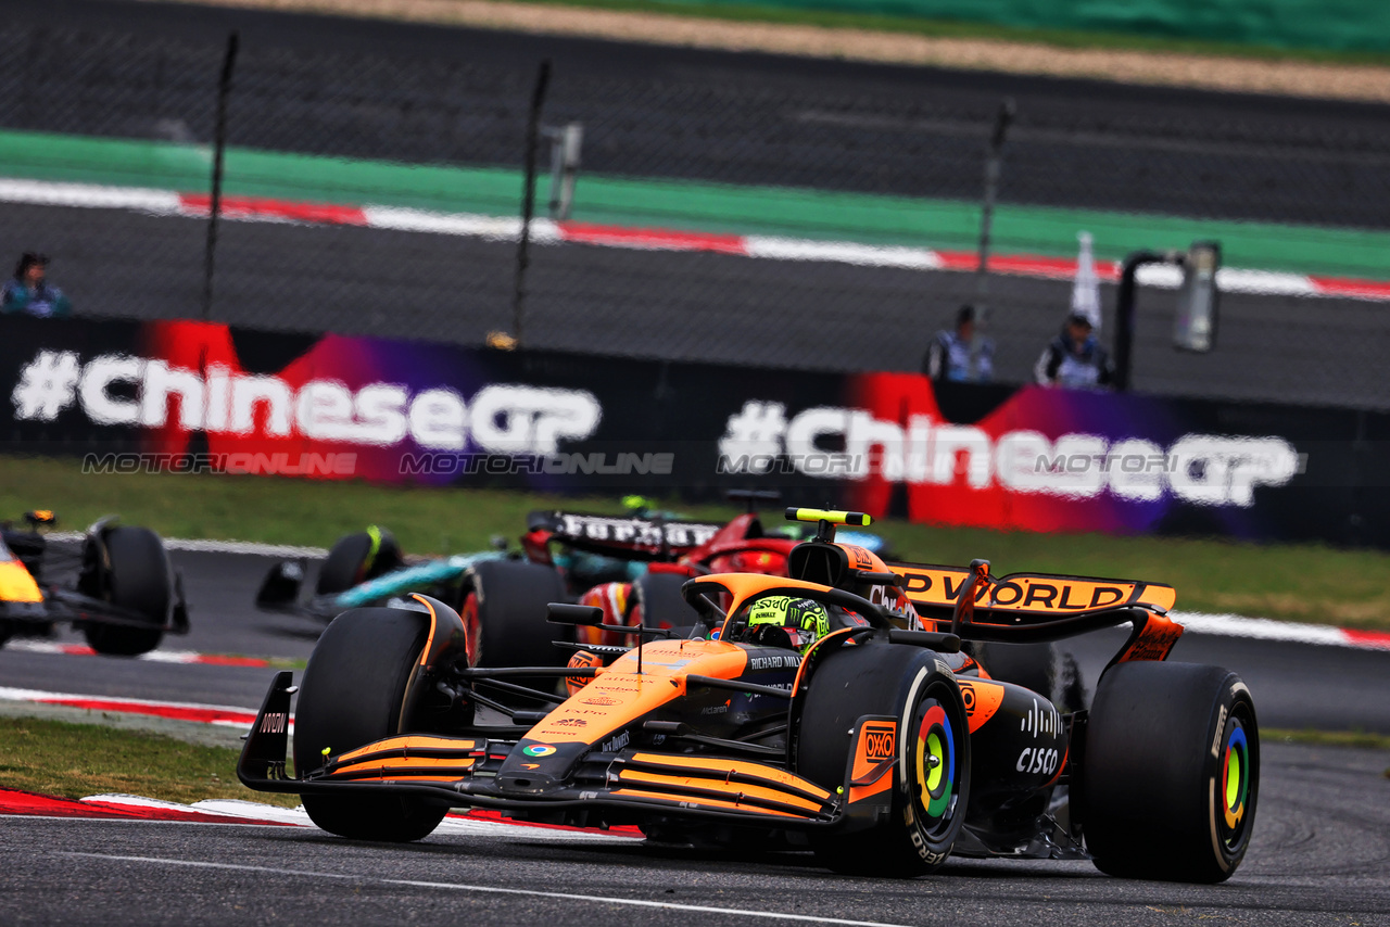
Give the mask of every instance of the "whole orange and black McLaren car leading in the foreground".
M 819 524 L 788 577 L 695 577 L 692 627 L 644 630 L 655 639 L 637 648 L 563 643 L 569 667 L 470 667 L 459 616 L 423 595 L 345 612 L 299 687 L 275 677 L 238 774 L 357 839 L 418 839 L 449 807 L 480 807 L 655 841 L 762 839 L 880 876 L 952 853 L 1202 883 L 1236 870 L 1258 795 L 1255 707 L 1234 674 L 1163 662 L 1182 635 L 1170 586 L 995 578 L 983 560 L 890 570 L 834 539 L 867 517 L 788 516 Z M 815 620 L 770 623 L 778 609 Z M 549 616 L 603 620 L 580 605 Z M 1073 713 L 962 652 L 1119 624 L 1127 642 Z

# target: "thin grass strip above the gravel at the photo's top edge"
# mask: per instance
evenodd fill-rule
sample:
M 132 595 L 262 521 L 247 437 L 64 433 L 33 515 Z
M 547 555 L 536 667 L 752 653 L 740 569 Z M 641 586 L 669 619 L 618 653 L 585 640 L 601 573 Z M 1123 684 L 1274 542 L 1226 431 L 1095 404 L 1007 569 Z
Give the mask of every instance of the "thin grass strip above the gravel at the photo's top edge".
M 1026 42 L 1059 49 L 1113 49 L 1151 51 L 1155 54 L 1204 54 L 1259 61 L 1311 61 L 1318 64 L 1390 65 L 1390 54 L 1383 51 L 1336 51 L 1326 49 L 1297 49 L 1257 46 L 1237 42 L 1211 42 L 1172 36 L 1134 35 L 1083 29 L 1037 29 L 962 19 L 923 19 L 870 13 L 835 13 L 821 10 L 790 10 L 759 4 L 699 3 L 698 0 L 521 0 L 538 6 L 587 7 L 632 13 L 662 13 L 701 19 L 731 22 L 771 22 L 780 25 L 812 25 L 827 29 L 869 29 L 923 35 L 934 39 L 990 39 L 995 42 Z

